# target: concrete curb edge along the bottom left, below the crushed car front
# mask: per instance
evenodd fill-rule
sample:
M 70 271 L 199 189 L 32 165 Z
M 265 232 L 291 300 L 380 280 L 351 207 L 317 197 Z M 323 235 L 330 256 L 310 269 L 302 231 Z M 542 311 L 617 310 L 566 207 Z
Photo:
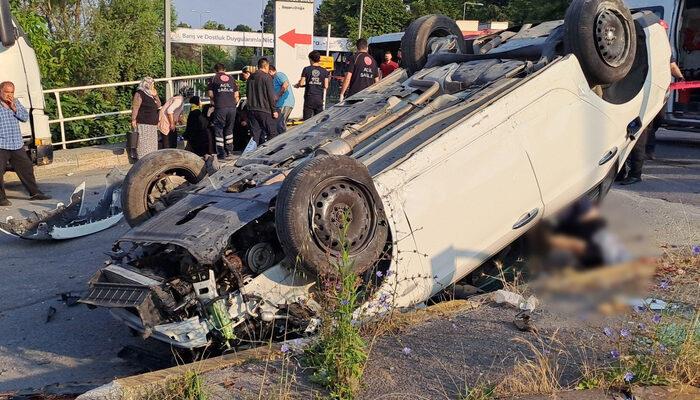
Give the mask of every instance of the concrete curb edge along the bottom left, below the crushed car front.
M 182 377 L 188 371 L 196 371 L 198 374 L 203 375 L 207 372 L 238 366 L 250 360 L 274 359 L 281 354 L 279 347 L 279 343 L 276 343 L 272 347 L 258 347 L 191 364 L 178 365 L 160 371 L 115 379 L 106 385 L 81 394 L 76 400 L 126 400 L 139 398 L 144 393 L 163 387 L 168 381 Z

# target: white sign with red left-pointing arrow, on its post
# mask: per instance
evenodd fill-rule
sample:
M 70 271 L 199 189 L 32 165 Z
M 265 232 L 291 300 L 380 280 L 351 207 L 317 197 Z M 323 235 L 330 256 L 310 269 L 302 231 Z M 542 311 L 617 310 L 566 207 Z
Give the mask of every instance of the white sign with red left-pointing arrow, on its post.
M 301 70 L 309 65 L 313 50 L 314 0 L 275 2 L 275 67 L 296 83 Z M 304 109 L 304 90 L 293 89 L 295 107 L 291 117 L 299 118 Z

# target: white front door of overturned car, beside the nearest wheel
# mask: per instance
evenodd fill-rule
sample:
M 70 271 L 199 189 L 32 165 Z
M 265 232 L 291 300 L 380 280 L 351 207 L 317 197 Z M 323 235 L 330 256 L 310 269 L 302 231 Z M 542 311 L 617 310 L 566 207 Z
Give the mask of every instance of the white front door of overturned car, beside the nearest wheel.
M 404 282 L 417 286 L 405 293 L 442 290 L 540 218 L 537 181 L 507 115 L 484 110 L 375 178 L 391 199 L 399 277 L 430 277 Z

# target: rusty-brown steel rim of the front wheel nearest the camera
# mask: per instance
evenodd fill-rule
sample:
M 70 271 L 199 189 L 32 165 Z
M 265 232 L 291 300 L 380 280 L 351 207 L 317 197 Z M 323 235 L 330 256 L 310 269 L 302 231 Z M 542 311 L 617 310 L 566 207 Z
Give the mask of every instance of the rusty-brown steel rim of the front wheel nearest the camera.
M 342 251 L 344 223 L 350 254 L 369 245 L 376 218 L 372 196 L 361 184 L 348 178 L 333 178 L 319 184 L 313 193 L 309 204 L 311 232 L 321 249 L 330 254 Z

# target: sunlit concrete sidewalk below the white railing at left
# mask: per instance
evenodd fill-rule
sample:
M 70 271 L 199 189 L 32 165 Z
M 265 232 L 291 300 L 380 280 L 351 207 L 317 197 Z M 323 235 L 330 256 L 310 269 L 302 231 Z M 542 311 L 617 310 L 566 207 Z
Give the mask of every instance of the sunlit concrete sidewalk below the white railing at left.
M 55 150 L 53 154 L 53 163 L 34 168 L 37 179 L 129 165 L 124 143 Z M 8 173 L 5 180 L 18 179 L 15 173 Z

